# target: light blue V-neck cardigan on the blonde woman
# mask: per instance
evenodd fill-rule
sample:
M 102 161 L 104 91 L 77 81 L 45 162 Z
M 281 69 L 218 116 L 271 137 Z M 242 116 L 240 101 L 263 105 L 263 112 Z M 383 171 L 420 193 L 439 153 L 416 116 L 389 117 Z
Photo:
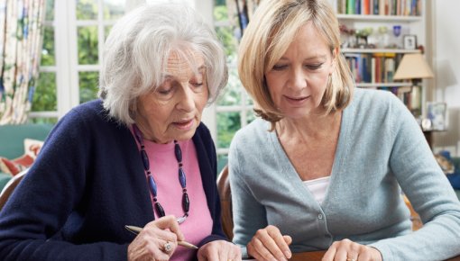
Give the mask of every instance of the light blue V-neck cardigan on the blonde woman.
M 318 204 L 270 124 L 239 130 L 229 152 L 235 222 L 243 247 L 275 225 L 293 252 L 327 249 L 350 238 L 376 247 L 383 260 L 441 260 L 460 254 L 460 202 L 419 125 L 390 92 L 356 89 L 345 108 L 330 184 Z M 411 231 L 400 188 L 425 223 Z

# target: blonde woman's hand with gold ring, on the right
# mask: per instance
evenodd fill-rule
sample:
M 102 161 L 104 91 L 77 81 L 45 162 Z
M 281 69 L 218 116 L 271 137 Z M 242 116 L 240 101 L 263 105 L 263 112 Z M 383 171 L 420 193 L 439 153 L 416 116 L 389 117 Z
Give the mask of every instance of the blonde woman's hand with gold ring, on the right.
M 382 254 L 373 247 L 367 247 L 350 239 L 334 242 L 327 249 L 322 261 L 382 261 Z

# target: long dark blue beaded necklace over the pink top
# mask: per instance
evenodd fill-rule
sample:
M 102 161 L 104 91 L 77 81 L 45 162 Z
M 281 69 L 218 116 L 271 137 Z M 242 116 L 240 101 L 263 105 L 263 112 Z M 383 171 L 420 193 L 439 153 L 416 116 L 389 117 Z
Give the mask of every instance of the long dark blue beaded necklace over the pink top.
M 134 130 L 134 136 L 141 145 L 141 158 L 143 159 L 143 169 L 145 171 L 145 174 L 147 175 L 147 179 L 149 181 L 149 189 L 150 193 L 152 193 L 153 197 L 153 202 L 155 206 L 155 211 L 157 211 L 157 214 L 159 217 L 164 217 L 164 209 L 161 206 L 161 203 L 158 201 L 157 198 L 157 184 L 155 182 L 155 179 L 153 178 L 152 172 L 150 171 L 150 160 L 149 156 L 147 155 L 147 152 L 145 152 L 145 147 L 143 145 L 143 133 L 137 125 L 133 125 L 133 130 Z M 176 156 L 176 159 L 179 164 L 179 183 L 180 186 L 182 187 L 182 210 L 184 211 L 184 215 L 178 219 L 179 224 L 182 223 L 187 219 L 189 216 L 189 208 L 190 208 L 190 201 L 189 201 L 189 194 L 187 193 L 187 182 L 186 182 L 186 176 L 185 172 L 182 169 L 182 150 L 180 149 L 179 143 L 177 140 L 174 139 L 174 155 Z

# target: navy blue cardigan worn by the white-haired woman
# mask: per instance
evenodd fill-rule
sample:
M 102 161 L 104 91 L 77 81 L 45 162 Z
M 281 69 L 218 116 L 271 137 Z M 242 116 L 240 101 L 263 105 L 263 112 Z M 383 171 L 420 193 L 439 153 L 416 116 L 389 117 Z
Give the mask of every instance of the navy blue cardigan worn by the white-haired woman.
M 212 235 L 225 239 L 216 187 L 216 148 L 204 124 L 193 136 Z M 154 219 L 143 164 L 128 128 L 100 100 L 58 122 L 0 213 L 1 260 L 126 260 L 133 234 Z

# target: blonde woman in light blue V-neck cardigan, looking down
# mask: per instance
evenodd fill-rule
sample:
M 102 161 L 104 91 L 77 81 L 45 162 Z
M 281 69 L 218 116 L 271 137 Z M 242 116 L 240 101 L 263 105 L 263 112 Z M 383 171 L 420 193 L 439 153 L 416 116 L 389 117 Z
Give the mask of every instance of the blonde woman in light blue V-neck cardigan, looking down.
M 261 260 L 460 254 L 460 202 L 419 125 L 394 94 L 354 89 L 338 29 L 326 0 L 264 0 L 244 31 L 239 75 L 262 119 L 229 152 L 235 243 Z

